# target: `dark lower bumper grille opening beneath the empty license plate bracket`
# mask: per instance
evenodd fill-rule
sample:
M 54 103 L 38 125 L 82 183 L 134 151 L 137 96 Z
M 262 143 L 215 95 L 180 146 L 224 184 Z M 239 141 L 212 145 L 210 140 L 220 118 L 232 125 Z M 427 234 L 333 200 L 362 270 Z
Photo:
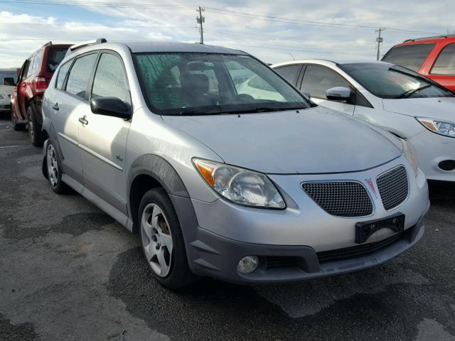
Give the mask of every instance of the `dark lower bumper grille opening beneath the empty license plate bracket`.
M 373 242 L 369 244 L 361 244 L 355 247 L 346 247 L 344 249 L 336 249 L 329 251 L 317 252 L 319 263 L 326 263 L 328 261 L 339 261 L 341 259 L 350 259 L 355 257 L 364 256 L 366 254 L 373 254 L 373 252 L 385 249 L 395 242 L 405 238 L 406 232 L 394 234 L 392 237 L 381 240 L 380 242 Z

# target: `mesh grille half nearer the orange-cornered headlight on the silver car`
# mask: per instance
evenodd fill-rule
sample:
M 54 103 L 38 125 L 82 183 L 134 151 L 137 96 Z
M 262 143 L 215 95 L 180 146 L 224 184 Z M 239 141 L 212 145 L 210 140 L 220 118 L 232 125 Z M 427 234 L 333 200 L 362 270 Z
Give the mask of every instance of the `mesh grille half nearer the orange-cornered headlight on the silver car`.
M 370 196 L 360 183 L 333 181 L 304 183 L 306 194 L 323 210 L 337 217 L 364 217 L 373 213 Z

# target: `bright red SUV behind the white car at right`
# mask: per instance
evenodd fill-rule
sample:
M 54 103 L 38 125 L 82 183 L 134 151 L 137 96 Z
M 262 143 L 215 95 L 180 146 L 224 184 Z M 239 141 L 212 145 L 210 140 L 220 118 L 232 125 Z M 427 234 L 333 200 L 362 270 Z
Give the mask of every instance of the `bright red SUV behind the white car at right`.
M 407 67 L 455 91 L 455 36 L 405 40 L 382 61 Z

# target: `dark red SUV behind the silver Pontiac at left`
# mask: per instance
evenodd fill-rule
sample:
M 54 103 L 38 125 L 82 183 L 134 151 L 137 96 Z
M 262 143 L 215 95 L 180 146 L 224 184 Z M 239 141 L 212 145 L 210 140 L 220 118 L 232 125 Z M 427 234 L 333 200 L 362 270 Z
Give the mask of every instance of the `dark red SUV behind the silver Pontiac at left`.
M 41 46 L 23 63 L 18 75 L 11 96 L 11 121 L 14 130 L 24 130 L 28 126 L 28 135 L 35 146 L 42 146 L 45 138 L 41 131 L 43 94 L 68 48 L 70 45 L 51 42 Z

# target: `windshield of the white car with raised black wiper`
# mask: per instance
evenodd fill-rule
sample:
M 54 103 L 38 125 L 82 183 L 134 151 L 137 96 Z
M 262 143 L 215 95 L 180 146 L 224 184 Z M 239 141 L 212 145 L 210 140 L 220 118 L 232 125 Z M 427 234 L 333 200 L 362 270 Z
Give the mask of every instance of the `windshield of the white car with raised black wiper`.
M 405 67 L 387 63 L 339 65 L 366 90 L 381 98 L 454 97 L 449 90 Z

